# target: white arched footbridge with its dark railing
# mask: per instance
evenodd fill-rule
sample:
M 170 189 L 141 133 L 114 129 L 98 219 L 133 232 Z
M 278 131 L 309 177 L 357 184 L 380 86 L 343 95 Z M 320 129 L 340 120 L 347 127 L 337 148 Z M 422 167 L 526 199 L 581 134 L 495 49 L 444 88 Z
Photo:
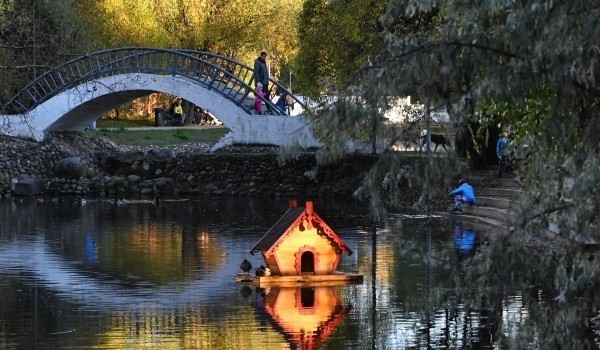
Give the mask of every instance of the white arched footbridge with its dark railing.
M 229 128 L 215 148 L 233 143 L 320 146 L 305 116 L 288 116 L 270 100 L 264 103 L 273 114 L 255 115 L 253 86 L 253 68 L 208 52 L 104 50 L 66 62 L 23 88 L 2 107 L 0 132 L 41 141 L 46 132 L 84 130 L 128 101 L 163 92 L 209 110 Z M 269 87 L 290 93 L 274 80 Z

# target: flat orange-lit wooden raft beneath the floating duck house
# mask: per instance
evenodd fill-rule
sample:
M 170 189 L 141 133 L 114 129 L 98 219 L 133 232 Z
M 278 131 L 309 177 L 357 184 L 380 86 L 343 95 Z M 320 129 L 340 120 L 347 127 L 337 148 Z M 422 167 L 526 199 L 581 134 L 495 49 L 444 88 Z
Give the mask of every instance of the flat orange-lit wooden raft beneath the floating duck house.
M 238 273 L 235 281 L 258 287 L 340 286 L 362 283 L 363 276 L 336 271 L 329 275 L 253 276 Z

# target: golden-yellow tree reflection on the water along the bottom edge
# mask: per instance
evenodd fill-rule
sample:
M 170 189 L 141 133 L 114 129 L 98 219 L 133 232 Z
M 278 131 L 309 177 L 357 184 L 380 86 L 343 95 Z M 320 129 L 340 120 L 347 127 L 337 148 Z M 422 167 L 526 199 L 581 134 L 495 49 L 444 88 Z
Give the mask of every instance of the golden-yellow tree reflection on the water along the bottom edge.
M 255 327 L 252 308 L 232 309 L 224 296 L 212 306 L 147 308 L 106 317 L 89 346 L 110 349 L 262 349 L 285 348 L 281 334 Z

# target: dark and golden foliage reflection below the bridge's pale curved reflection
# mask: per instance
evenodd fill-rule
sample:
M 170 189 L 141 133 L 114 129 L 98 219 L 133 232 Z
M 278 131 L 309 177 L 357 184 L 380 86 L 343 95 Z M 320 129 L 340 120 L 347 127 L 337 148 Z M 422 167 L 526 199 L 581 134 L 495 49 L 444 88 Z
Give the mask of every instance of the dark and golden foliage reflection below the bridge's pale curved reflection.
M 173 309 L 140 305 L 108 314 L 82 313 L 79 304 L 65 301 L 48 288 L 22 284 L 19 280 L 24 276 L 0 277 L 1 348 L 45 348 L 42 344 L 73 349 L 287 347 L 280 333 L 258 327 L 253 308 L 238 304 L 234 294 L 216 295 L 209 305 Z

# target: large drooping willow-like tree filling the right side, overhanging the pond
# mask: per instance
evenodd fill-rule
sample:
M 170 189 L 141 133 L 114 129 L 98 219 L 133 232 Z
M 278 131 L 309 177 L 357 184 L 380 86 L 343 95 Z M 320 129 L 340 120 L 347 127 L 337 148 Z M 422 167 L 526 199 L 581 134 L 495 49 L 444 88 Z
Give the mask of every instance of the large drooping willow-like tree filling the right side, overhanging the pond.
M 397 31 L 398 18 L 428 14 L 435 18 L 433 30 Z M 533 285 L 547 293 L 532 312 L 537 325 L 533 317 L 525 320 L 513 339 L 516 348 L 592 346 L 581 335 L 586 317 L 600 309 L 597 245 L 588 250 L 589 242 L 600 242 L 598 18 L 600 4 L 583 0 L 390 1 L 381 17 L 382 51 L 364 62 L 316 121 L 322 134 L 335 135 L 326 139 L 327 155 L 320 159 L 342 154 L 361 125 L 377 125 L 363 128 L 370 138 L 402 142 L 380 122 L 381 111 L 398 96 L 419 96 L 424 118 L 430 109 L 445 108 L 465 141 L 461 155 L 473 161 L 489 152 L 484 148 L 495 141 L 498 125 L 511 129 L 527 191 L 513 208 L 511 234 L 494 238 L 471 277 L 478 290 Z M 491 142 L 481 142 L 484 136 Z M 444 189 L 442 175 L 456 173 L 464 161 L 426 154 L 415 173 L 386 154 L 360 194 L 377 212 L 385 210 L 379 189 L 387 173 L 397 182 L 422 184 L 422 199 L 431 198 Z M 549 221 L 563 249 L 532 254 L 525 237 L 544 239 Z

